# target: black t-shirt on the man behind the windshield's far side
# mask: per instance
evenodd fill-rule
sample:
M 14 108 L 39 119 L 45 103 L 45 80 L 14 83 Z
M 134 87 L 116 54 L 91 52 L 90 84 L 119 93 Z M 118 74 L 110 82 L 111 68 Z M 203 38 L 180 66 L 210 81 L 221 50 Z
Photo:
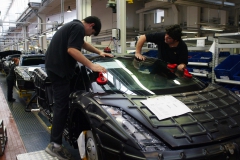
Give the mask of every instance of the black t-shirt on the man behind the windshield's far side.
M 165 33 L 146 34 L 147 42 L 155 43 L 158 46 L 158 58 L 173 64 L 188 64 L 188 49 L 183 40 L 179 41 L 177 47 L 169 47 L 165 43 Z

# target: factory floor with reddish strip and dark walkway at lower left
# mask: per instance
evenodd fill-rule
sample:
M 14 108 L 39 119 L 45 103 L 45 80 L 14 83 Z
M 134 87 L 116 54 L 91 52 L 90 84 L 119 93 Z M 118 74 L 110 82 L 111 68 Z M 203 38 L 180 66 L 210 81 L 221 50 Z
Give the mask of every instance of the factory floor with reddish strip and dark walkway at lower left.
M 20 97 L 14 89 L 15 102 L 6 100 L 6 75 L 0 73 L 0 160 L 52 160 L 44 149 L 49 143 L 51 125 L 37 112 L 25 112 L 27 97 Z M 33 92 L 28 92 L 32 95 Z M 2 125 L 1 125 L 2 124 Z M 2 133 L 2 129 L 5 132 Z M 4 133 L 7 133 L 4 135 Z M 78 149 L 74 149 L 65 140 L 63 145 L 72 154 L 74 160 L 80 160 Z

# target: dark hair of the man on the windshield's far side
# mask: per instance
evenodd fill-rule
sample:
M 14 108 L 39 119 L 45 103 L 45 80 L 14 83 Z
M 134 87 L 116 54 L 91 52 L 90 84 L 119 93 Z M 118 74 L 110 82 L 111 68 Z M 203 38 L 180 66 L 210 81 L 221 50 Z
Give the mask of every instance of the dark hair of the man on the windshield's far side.
M 168 34 L 172 39 L 181 40 L 182 28 L 178 24 L 168 26 L 166 29 L 166 34 Z

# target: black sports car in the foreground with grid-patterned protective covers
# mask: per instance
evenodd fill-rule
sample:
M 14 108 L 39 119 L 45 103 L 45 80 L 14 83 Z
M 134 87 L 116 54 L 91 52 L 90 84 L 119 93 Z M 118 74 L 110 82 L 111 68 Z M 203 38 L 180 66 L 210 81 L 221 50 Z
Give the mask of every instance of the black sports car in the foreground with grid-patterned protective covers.
M 99 83 L 99 73 L 79 64 L 64 132 L 76 147 L 79 135 L 87 131 L 87 159 L 239 159 L 240 99 L 234 93 L 187 78 L 153 58 L 91 60 L 108 70 L 103 74 L 107 83 Z M 54 100 L 46 90 L 47 75 L 41 69 L 34 74 L 39 106 L 49 113 Z M 188 111 L 177 114 L 182 106 Z M 175 115 L 164 117 L 169 113 Z

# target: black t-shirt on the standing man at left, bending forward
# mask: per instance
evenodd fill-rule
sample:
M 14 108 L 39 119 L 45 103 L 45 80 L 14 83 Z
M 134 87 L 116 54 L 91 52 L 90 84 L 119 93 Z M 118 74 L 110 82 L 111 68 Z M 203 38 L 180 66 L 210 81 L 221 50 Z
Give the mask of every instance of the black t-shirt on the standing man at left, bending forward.
M 59 77 L 71 78 L 74 75 L 76 60 L 68 54 L 68 48 L 79 51 L 84 43 L 85 30 L 81 21 L 73 20 L 63 25 L 53 36 L 46 51 L 47 71 Z

